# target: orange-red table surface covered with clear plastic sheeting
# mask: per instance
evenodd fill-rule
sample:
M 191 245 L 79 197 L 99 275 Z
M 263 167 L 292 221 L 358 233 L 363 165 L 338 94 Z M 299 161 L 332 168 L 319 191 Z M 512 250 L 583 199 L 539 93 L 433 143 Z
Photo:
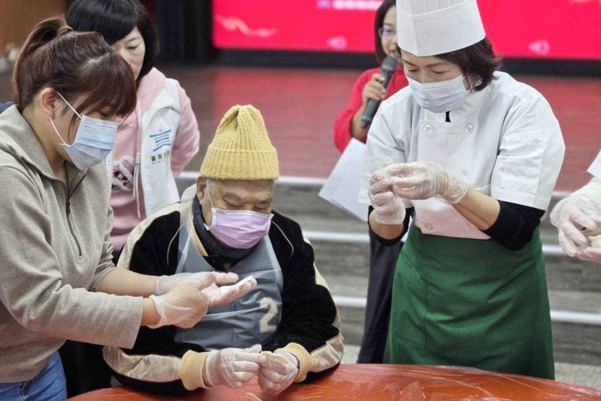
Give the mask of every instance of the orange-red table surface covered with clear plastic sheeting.
M 484 370 L 415 365 L 344 364 L 319 381 L 292 385 L 279 396 L 248 387 L 211 388 L 186 397 L 159 397 L 126 388 L 93 391 L 73 401 L 601 401 L 601 391 L 545 379 Z

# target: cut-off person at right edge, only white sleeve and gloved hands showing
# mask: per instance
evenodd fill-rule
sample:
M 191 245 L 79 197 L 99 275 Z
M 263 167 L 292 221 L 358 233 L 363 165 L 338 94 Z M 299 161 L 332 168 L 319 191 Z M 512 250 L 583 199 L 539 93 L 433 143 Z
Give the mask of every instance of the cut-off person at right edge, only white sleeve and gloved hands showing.
M 601 152 L 588 173 L 590 182 L 554 207 L 551 222 L 568 256 L 601 263 Z

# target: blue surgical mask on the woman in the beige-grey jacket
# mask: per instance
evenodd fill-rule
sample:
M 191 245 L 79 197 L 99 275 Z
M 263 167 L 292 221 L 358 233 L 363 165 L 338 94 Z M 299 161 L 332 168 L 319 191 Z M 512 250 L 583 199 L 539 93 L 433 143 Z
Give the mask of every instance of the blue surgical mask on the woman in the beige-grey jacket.
M 75 141 L 70 145 L 67 145 L 63 136 L 56 129 L 54 121 L 50 118 L 50 124 L 52 124 L 56 135 L 63 141 L 61 146 L 79 170 L 85 170 L 88 167 L 102 163 L 115 146 L 115 135 L 117 135 L 119 124 L 115 121 L 105 121 L 100 120 L 100 118 L 81 115 L 65 100 L 63 95 L 59 93 L 58 96 L 81 118 Z

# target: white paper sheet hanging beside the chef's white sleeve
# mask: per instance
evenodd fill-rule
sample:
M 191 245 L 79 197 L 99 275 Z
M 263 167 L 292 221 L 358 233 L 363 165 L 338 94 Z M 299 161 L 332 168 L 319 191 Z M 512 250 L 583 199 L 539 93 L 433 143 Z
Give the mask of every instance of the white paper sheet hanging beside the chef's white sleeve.
M 319 196 L 367 222 L 367 205 L 357 201 L 365 144 L 353 138 L 336 163 Z

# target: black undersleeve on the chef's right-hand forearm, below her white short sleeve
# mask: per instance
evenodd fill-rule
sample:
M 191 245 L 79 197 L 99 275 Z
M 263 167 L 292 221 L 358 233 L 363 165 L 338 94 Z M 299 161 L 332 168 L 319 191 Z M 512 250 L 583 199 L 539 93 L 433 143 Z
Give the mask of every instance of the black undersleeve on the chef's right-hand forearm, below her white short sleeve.
M 499 201 L 499 204 L 501 210 L 498 218 L 482 232 L 505 248 L 518 251 L 532 240 L 545 210 L 505 201 Z

